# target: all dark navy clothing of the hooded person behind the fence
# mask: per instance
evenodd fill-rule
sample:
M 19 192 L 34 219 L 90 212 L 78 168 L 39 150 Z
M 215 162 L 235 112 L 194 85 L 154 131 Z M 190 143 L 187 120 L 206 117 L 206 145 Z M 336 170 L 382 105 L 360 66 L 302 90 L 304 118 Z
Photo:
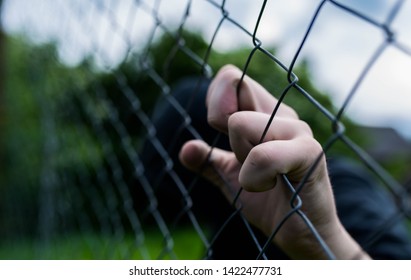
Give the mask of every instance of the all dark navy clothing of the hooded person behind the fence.
M 206 224 L 217 232 L 233 209 L 217 188 L 187 171 L 178 161 L 178 151 L 187 140 L 201 137 L 212 144 L 216 139 L 217 132 L 207 124 L 207 88 L 208 81 L 199 83 L 197 79 L 190 78 L 179 83 L 171 97 L 160 100 L 152 121 L 156 127 L 156 137 L 167 153 L 159 151 L 155 144 L 147 141 L 142 160 L 147 176 L 156 188 L 159 209 L 166 219 L 174 222 L 179 217 L 178 223 L 192 222 L 190 215 L 182 211 L 188 204 L 184 194 L 187 191 L 192 207 L 186 207 L 185 210 L 192 211 L 201 225 Z M 230 149 L 224 135 L 220 135 L 214 145 Z M 347 160 L 333 159 L 328 166 L 338 215 L 353 238 L 372 258 L 411 259 L 410 231 L 406 229 L 401 213 L 385 190 L 364 169 L 354 167 Z M 212 244 L 211 258 L 255 259 L 259 249 L 253 236 L 260 244 L 264 244 L 267 237 L 255 228 L 251 230 L 253 234 L 250 234 L 250 228 L 244 220 L 236 215 Z M 213 236 L 211 234 L 211 238 Z M 288 258 L 275 245 L 269 247 L 266 256 L 269 259 Z

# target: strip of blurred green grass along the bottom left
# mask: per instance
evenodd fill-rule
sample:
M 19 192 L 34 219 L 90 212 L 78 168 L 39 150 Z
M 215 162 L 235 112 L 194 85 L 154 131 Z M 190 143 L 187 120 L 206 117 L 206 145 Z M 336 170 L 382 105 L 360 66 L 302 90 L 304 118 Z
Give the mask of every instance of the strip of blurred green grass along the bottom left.
M 172 252 L 164 250 L 163 235 L 150 232 L 137 244 L 133 236 L 116 238 L 96 234 L 71 235 L 44 243 L 33 240 L 0 243 L 5 260 L 87 260 L 87 259 L 201 259 L 204 245 L 193 230 L 181 229 L 172 235 Z

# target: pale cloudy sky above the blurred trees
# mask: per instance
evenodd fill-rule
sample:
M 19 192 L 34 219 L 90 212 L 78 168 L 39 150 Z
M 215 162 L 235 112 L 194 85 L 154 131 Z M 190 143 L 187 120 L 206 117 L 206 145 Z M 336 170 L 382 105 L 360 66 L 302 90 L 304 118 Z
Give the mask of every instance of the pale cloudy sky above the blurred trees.
M 214 0 L 216 3 L 222 1 Z M 277 57 L 291 63 L 308 24 L 322 1 L 267 1 L 257 31 L 263 45 L 277 47 Z M 394 38 L 411 50 L 411 3 L 404 1 L 396 16 L 389 15 L 399 1 L 340 0 L 371 21 L 389 23 Z M 401 2 L 401 1 L 400 1 Z M 186 26 L 211 39 L 221 11 L 204 0 L 5 0 L 2 23 L 10 33 L 26 33 L 35 42 L 53 40 L 60 56 L 75 64 L 98 50 L 100 63 L 118 63 L 129 50 L 138 49 L 155 25 L 152 9 L 162 22 L 176 26 L 191 3 Z M 229 17 L 253 31 L 263 1 L 226 0 Z M 326 2 L 300 54 L 310 62 L 314 83 L 332 94 L 338 106 L 356 85 L 386 34 L 368 21 Z M 225 21 L 214 47 L 229 50 L 251 46 L 250 38 Z M 351 100 L 347 114 L 365 125 L 393 126 L 411 139 L 411 55 L 389 46 L 373 64 Z

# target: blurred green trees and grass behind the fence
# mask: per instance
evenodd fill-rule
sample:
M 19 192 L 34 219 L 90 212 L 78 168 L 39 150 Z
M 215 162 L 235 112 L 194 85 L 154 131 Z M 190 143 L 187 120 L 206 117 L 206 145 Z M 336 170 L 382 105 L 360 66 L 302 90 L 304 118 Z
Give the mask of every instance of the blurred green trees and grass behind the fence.
M 4 32 L 0 38 L 0 258 L 201 258 L 205 247 L 193 228 L 177 227 L 172 244 L 164 246 L 170 240 L 158 227 L 140 225 L 143 235 L 124 222 L 132 214 L 123 211 L 121 192 L 132 192 L 127 178 L 134 172 L 124 140 L 136 152 L 147 134 L 135 109 L 149 115 L 162 94 L 154 74 L 172 85 L 188 75 L 206 75 L 207 69 L 215 72 L 227 63 L 243 68 L 252 48 L 217 51 L 209 49 L 199 32 L 175 30 L 164 32 L 108 70 L 97 66 L 92 57 L 74 66 L 62 63 L 53 42 L 37 44 L 24 34 Z M 187 50 L 206 59 L 209 68 Z M 269 51 L 275 54 L 275 46 Z M 308 61 L 300 61 L 294 73 L 301 87 L 336 113 L 329 94 L 310 82 Z M 247 74 L 276 97 L 289 84 L 287 72 L 259 51 Z M 311 125 L 320 143 L 333 135 L 332 122 L 300 92 L 291 89 L 284 102 Z M 365 148 L 373 145 L 375 139 L 364 135 L 354 120 L 341 121 L 354 142 Z M 99 133 L 98 127 L 105 132 Z M 118 137 L 119 127 L 127 139 Z M 121 168 L 120 182 L 110 166 L 112 159 L 107 159 L 110 154 Z M 339 142 L 328 152 L 333 154 L 357 160 Z M 403 182 L 409 161 L 407 155 L 398 155 L 380 163 Z M 104 200 L 109 195 L 104 186 L 100 188 L 101 182 L 116 188 L 109 190 L 117 199 L 113 204 Z M 121 228 L 104 226 L 116 221 Z

